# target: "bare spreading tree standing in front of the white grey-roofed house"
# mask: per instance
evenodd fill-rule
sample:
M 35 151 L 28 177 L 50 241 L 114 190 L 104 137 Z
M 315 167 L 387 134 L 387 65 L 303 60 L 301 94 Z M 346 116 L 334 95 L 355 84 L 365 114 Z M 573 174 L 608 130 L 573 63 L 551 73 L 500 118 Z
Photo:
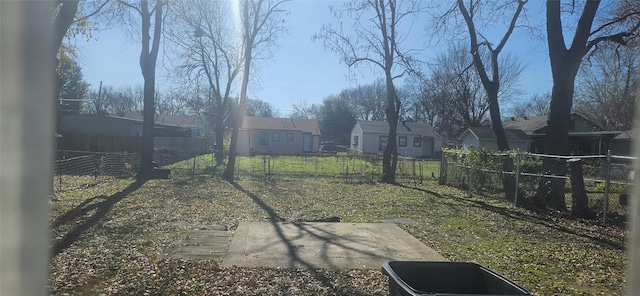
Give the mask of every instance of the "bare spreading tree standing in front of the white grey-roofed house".
M 389 141 L 382 154 L 380 181 L 383 183 L 395 183 L 398 164 L 396 128 L 401 101 L 394 80 L 411 72 L 415 64 L 409 52 L 401 47 L 408 34 L 402 31 L 401 25 L 403 21 L 410 22 L 411 17 L 421 11 L 419 4 L 396 0 L 352 1 L 342 10 L 334 10 L 339 28 L 326 25 L 314 36 L 322 39 L 325 47 L 337 53 L 348 67 L 373 65 L 384 73 Z

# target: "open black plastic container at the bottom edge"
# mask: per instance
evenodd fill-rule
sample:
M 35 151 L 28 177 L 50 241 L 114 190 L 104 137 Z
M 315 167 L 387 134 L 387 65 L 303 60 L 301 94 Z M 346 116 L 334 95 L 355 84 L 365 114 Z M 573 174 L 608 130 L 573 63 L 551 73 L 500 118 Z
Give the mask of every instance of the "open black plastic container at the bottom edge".
M 531 295 L 503 276 L 475 263 L 391 261 L 389 295 Z

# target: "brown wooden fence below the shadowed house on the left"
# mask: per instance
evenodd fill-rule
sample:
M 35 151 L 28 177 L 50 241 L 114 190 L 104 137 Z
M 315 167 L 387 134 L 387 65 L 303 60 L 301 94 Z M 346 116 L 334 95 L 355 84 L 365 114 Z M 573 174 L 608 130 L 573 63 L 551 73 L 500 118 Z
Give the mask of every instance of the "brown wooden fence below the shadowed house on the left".
M 202 153 L 212 150 L 213 138 L 155 137 L 153 147 L 171 151 Z M 64 135 L 58 150 L 93 152 L 141 152 L 142 137 Z

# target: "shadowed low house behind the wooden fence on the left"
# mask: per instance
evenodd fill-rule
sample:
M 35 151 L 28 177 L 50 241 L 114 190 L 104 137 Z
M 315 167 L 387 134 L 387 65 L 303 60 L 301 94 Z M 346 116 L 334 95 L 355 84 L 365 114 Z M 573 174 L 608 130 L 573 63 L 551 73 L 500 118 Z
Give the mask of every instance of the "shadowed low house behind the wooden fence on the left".
M 142 119 L 95 114 L 65 115 L 60 120 L 60 134 L 85 136 L 142 136 Z M 157 123 L 156 137 L 190 137 L 190 127 Z

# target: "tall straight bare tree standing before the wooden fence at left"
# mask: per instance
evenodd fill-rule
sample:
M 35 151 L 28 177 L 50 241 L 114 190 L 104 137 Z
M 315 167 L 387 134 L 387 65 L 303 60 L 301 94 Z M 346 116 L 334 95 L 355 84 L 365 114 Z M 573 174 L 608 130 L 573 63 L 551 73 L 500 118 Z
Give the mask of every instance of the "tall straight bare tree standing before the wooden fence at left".
M 140 69 L 144 77 L 144 106 L 142 111 L 142 153 L 138 180 L 152 178 L 153 172 L 153 125 L 155 117 L 156 93 L 156 61 L 162 37 L 162 23 L 164 21 L 164 0 L 148 0 L 127 2 L 118 0 L 126 8 L 129 21 L 140 22 L 141 51 Z

